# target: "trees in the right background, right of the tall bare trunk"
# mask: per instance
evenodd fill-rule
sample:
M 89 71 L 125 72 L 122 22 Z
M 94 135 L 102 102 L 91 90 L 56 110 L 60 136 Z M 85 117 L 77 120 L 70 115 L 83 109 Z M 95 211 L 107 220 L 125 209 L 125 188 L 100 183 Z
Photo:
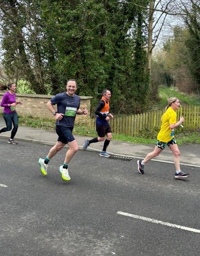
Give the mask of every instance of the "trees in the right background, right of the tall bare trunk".
M 200 9 L 195 8 L 194 13 L 185 10 L 189 14 L 184 18 L 186 26 L 174 27 L 173 36 L 168 37 L 154 57 L 152 82 L 155 86 L 173 85 L 184 93 L 200 94 L 200 23 L 195 18 Z

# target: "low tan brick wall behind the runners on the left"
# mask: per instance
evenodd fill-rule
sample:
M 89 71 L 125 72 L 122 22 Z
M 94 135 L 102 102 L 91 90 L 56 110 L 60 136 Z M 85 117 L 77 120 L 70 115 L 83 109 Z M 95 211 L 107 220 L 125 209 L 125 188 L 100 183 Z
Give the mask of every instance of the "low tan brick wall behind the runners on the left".
M 0 92 L 0 101 L 2 100 L 4 93 Z M 48 110 L 46 103 L 53 97 L 53 95 L 39 95 L 39 94 L 21 94 L 16 93 L 16 101 L 22 101 L 22 105 L 17 105 L 18 116 L 33 116 L 38 118 L 54 119 L 52 113 Z M 90 96 L 80 96 L 80 108 L 85 106 L 88 110 L 88 116 L 77 115 L 76 122 L 85 121 L 90 118 Z M 57 110 L 56 105 L 54 108 Z M 3 112 L 0 107 L 0 113 Z

